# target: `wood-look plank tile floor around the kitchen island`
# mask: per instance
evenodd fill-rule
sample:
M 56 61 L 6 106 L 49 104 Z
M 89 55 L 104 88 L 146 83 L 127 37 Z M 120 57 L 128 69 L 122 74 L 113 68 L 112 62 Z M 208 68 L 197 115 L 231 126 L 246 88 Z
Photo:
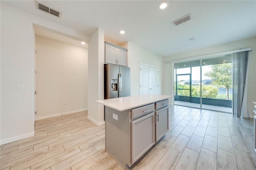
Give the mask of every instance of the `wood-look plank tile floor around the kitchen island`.
M 133 168 L 253 170 L 253 119 L 170 106 L 170 131 Z M 105 149 L 104 125 L 87 112 L 36 121 L 35 136 L 0 146 L 1 170 L 119 170 Z

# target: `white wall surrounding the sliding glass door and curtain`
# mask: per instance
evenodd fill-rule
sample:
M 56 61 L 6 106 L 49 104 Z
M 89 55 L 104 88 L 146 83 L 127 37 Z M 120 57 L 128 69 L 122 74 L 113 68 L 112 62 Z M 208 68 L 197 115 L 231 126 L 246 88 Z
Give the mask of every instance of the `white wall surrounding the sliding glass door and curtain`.
M 253 117 L 253 101 L 256 101 L 256 37 L 248 38 L 244 40 L 239 40 L 235 42 L 225 43 L 221 45 L 216 45 L 213 47 L 208 47 L 204 49 L 198 49 L 195 51 L 189 51 L 185 53 L 179 53 L 163 58 L 163 94 L 173 95 L 173 68 L 172 63 L 168 61 L 178 60 L 178 59 L 189 59 L 190 57 L 196 57 L 200 55 L 208 55 L 213 53 L 221 53 L 226 51 L 232 51 L 237 49 L 244 49 L 252 47 L 252 51 L 249 53 L 249 63 L 248 63 L 248 91 L 247 91 L 247 104 L 248 111 L 250 112 L 250 117 Z M 247 115 L 247 114 L 246 114 Z

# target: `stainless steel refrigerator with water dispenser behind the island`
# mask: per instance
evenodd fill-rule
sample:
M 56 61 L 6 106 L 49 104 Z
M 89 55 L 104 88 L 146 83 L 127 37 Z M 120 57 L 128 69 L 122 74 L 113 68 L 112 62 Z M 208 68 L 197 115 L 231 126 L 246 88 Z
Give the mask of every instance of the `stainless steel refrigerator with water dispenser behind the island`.
M 104 99 L 130 96 L 130 68 L 104 65 Z

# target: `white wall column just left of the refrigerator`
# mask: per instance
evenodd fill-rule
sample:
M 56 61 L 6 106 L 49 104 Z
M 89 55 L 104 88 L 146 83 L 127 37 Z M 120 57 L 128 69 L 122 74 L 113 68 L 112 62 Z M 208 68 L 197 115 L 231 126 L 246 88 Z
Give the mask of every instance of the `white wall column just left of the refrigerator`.
M 88 119 L 104 124 L 104 107 L 96 100 L 104 99 L 104 30 L 98 28 L 88 44 Z

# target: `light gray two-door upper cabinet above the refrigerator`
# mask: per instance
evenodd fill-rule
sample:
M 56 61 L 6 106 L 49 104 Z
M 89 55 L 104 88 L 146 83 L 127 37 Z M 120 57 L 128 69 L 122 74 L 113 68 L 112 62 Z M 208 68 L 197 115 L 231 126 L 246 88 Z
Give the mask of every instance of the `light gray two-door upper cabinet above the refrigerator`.
M 127 66 L 127 49 L 105 42 L 105 63 Z

